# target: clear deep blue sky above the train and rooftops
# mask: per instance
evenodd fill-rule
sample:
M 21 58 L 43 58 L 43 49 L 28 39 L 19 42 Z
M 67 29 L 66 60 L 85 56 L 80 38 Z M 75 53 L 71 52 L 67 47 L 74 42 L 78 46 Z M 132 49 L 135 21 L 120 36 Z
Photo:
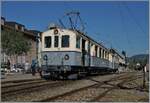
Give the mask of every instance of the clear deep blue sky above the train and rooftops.
M 146 1 L 5 1 L 1 4 L 1 15 L 8 21 L 24 24 L 27 29 L 45 31 L 66 11 L 77 10 L 86 23 L 88 36 L 132 56 L 148 52 L 148 4 Z

